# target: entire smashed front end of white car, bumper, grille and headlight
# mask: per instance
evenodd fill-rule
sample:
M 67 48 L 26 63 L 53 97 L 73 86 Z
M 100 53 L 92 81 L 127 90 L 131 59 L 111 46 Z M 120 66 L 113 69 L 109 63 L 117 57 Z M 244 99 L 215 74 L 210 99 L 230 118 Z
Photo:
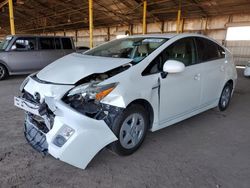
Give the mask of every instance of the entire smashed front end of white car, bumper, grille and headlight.
M 102 148 L 117 140 L 111 127 L 123 111 L 101 102 L 118 83 L 101 85 L 106 76 L 91 76 L 76 87 L 45 83 L 31 76 L 23 85 L 23 96 L 14 99 L 15 105 L 25 110 L 24 134 L 29 144 L 82 169 Z

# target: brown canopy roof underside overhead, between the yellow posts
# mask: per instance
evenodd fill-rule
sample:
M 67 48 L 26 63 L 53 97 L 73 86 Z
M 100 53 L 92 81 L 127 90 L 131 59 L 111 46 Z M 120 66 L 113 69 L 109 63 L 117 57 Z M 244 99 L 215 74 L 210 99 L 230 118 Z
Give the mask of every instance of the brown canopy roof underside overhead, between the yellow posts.
M 0 0 L 0 34 L 9 33 L 8 0 Z M 178 0 L 148 0 L 147 22 L 176 19 Z M 250 0 L 182 0 L 183 18 L 249 13 Z M 142 20 L 142 0 L 94 0 L 94 26 Z M 18 33 L 88 28 L 88 0 L 14 0 Z

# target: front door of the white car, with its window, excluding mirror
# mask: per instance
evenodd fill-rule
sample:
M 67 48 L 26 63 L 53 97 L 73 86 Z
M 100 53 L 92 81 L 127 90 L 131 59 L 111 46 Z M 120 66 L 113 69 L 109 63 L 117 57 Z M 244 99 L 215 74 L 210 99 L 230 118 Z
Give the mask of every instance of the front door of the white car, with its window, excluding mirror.
M 180 61 L 186 67 L 181 73 L 169 73 L 166 78 L 159 78 L 160 124 L 191 114 L 199 109 L 201 100 L 202 64 L 197 64 L 193 38 L 174 42 L 164 53 L 166 60 Z

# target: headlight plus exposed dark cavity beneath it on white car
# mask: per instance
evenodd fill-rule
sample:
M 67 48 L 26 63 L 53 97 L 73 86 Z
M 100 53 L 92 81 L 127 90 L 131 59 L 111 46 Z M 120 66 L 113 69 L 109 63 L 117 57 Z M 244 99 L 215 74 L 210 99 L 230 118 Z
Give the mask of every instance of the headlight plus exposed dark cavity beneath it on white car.
M 101 103 L 100 101 L 108 95 L 118 83 L 98 86 L 98 82 L 80 85 L 71 90 L 63 101 L 81 114 L 103 120 L 111 128 L 114 119 L 123 108 Z

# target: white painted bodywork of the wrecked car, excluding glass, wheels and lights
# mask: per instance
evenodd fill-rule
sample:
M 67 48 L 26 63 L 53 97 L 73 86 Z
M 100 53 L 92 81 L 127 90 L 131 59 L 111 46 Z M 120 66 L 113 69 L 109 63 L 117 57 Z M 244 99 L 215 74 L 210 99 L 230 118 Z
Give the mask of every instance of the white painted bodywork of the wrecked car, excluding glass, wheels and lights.
M 192 65 L 180 73 L 168 74 L 165 79 L 160 73 L 141 75 L 162 50 L 178 39 L 189 36 L 200 35 L 151 35 L 150 37 L 172 38 L 140 63 L 104 80 L 101 84 L 114 82 L 119 84 L 101 102 L 126 108 L 135 100 L 147 101 L 153 110 L 151 131 L 216 107 L 225 83 L 233 80 L 235 86 L 237 79 L 233 58 L 227 50 L 226 61 L 216 60 Z M 72 54 L 49 65 L 40 71 L 37 77 L 47 82 L 74 84 L 90 74 L 103 73 L 130 61 L 131 59 Z M 100 149 L 117 138 L 104 121 L 86 117 L 61 101 L 62 96 L 73 87 L 73 85 L 42 84 L 30 79 L 24 89 L 32 95 L 39 92 L 41 102 L 45 100 L 56 114 L 54 126 L 46 135 L 49 153 L 55 158 L 84 169 Z M 65 125 L 72 127 L 76 132 L 62 148 L 58 148 L 52 140 Z

